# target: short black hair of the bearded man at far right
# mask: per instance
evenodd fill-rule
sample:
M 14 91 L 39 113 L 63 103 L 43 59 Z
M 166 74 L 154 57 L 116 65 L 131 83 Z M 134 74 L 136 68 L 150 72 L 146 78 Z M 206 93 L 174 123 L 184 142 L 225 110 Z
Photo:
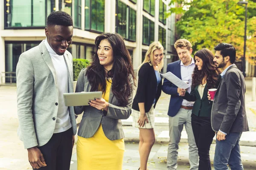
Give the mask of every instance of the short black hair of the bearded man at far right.
M 228 44 L 228 43 L 219 43 L 214 47 L 215 51 L 221 51 L 222 57 L 230 57 L 230 62 L 232 64 L 235 63 L 236 61 L 236 49 L 233 45 Z

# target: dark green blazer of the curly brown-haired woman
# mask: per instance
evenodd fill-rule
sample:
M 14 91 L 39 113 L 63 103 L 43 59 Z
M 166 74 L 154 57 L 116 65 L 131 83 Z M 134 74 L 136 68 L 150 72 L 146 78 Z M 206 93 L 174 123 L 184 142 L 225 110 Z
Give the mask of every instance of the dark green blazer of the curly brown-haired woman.
M 213 88 L 218 88 L 219 82 L 221 81 L 221 75 L 219 74 L 218 76 L 218 82 Z M 204 87 L 204 93 L 203 97 L 201 99 L 200 94 L 198 92 L 198 85 L 195 86 L 195 88 L 192 88 L 190 94 L 189 92 L 186 91 L 185 96 L 183 99 L 186 99 L 189 102 L 194 102 L 193 109 L 192 109 L 192 114 L 198 116 L 198 117 L 210 117 L 211 116 L 211 111 L 212 111 L 212 101 L 209 102 L 208 100 L 208 83 Z

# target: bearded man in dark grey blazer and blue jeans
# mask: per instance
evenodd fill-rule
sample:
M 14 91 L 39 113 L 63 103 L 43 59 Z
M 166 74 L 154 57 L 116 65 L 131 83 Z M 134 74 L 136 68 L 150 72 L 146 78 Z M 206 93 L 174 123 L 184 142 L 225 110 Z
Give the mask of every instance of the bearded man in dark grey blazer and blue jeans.
M 213 61 L 224 70 L 212 105 L 212 129 L 217 133 L 214 168 L 229 170 L 229 164 L 231 170 L 243 170 L 239 139 L 242 132 L 249 130 L 244 104 L 244 76 L 234 64 L 236 49 L 233 45 L 220 43 L 214 49 Z

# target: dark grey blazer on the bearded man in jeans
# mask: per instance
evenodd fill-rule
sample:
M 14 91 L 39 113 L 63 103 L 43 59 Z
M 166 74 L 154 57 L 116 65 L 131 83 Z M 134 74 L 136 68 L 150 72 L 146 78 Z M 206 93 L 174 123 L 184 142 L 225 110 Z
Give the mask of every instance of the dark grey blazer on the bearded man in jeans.
M 221 79 L 212 104 L 212 130 L 225 133 L 249 130 L 245 112 L 244 76 L 236 65 Z

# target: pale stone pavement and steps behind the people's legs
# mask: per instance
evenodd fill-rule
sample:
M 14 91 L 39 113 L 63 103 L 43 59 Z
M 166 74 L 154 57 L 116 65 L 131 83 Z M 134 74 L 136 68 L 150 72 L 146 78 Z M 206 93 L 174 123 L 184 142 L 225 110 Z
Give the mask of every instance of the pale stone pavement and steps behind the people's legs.
M 256 170 L 256 101 L 251 101 L 251 79 L 246 79 L 246 111 L 250 132 L 241 137 L 241 157 L 244 170 Z M 155 134 L 156 143 L 152 147 L 149 159 L 149 170 L 166 170 L 166 156 L 169 141 L 168 105 L 170 96 L 162 93 L 157 102 Z M 17 137 L 17 103 L 16 87 L 0 87 L 0 170 L 31 170 L 27 159 L 27 151 L 23 142 Z M 81 117 L 80 117 L 81 118 Z M 79 121 L 79 118 L 78 118 Z M 132 117 L 122 120 L 125 132 L 125 154 L 123 170 L 137 170 L 140 165 L 138 153 L 139 130 L 131 126 Z M 77 139 L 77 136 L 76 136 Z M 215 144 L 211 145 L 210 158 L 214 157 Z M 185 128 L 179 144 L 178 169 L 189 170 L 188 144 Z M 76 144 L 70 170 L 76 170 Z M 213 169 L 213 168 L 212 168 Z

